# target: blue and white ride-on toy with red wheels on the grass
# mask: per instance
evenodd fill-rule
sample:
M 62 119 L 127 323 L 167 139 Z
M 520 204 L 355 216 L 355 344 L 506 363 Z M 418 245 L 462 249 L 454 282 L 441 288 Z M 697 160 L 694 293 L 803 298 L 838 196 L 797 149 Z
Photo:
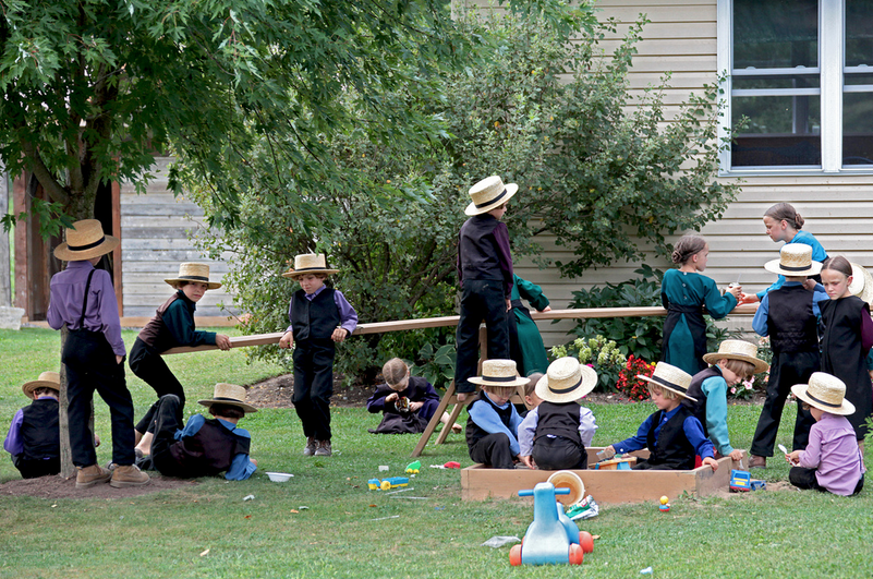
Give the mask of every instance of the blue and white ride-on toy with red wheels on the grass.
M 534 520 L 520 545 L 509 551 L 510 565 L 581 565 L 585 546 L 593 547 L 589 533 L 580 533 L 579 527 L 563 512 L 563 505 L 555 495 L 570 494 L 570 488 L 555 488 L 551 483 L 537 483 L 533 490 L 519 491 L 519 496 L 534 497 Z

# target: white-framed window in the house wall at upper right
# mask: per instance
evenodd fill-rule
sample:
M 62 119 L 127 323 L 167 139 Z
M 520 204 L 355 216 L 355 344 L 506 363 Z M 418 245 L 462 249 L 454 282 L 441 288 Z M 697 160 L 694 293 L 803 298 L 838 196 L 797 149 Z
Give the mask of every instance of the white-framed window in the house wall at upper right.
M 726 120 L 745 122 L 723 167 L 873 170 L 873 0 L 719 0 L 718 10 Z

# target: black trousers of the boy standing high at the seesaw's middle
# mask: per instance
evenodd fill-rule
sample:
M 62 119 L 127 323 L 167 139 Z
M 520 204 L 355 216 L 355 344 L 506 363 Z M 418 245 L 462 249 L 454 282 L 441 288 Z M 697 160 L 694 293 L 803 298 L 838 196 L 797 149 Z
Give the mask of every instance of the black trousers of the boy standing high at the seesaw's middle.
M 509 359 L 509 322 L 504 281 L 465 279 L 461 291 L 461 319 L 458 322 L 454 364 L 454 387 L 458 393 L 472 393 L 470 382 L 478 363 L 478 325 L 485 321 L 488 330 L 488 359 Z

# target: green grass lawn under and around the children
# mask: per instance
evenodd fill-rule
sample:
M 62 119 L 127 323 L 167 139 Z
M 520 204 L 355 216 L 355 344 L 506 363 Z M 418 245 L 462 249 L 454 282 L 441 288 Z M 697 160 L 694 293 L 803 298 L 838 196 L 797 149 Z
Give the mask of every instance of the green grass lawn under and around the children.
M 133 337 L 125 333 L 129 346 Z M 3 435 L 24 406 L 21 384 L 57 369 L 58 341 L 49 330 L 0 330 Z M 246 365 L 241 350 L 168 361 L 186 386 L 189 411 L 199 408 L 193 401 L 209 397 L 216 382 L 251 384 L 279 372 L 266 363 Z M 130 373 L 128 384 L 138 414 L 154 393 Z M 592 405 L 599 424 L 594 444 L 630 435 L 653 408 Z M 98 399 L 95 409 L 98 433 L 108 438 L 106 406 Z M 730 407 L 735 446 L 749 447 L 759 412 L 756 406 Z M 667 514 L 656 504 L 604 506 L 599 517 L 580 526 L 601 536 L 582 566 L 512 568 L 508 546 L 480 545 L 493 535 L 522 536 L 532 505 L 463 503 L 459 472 L 428 468 L 448 460 L 470 465 L 461 436 L 425 450 L 414 491 L 386 495 L 368 491 L 366 480 L 379 475 L 379 465 L 401 474 L 417 437 L 368 434 L 378 418 L 361 408 L 335 409 L 332 420 L 337 455 L 306 458 L 293 410 L 246 417 L 241 426 L 252 433 L 252 456 L 259 463 L 248 481 L 204 479 L 108 500 L 0 496 L 0 577 L 606 578 L 646 577 L 639 571 L 648 566 L 654 577 L 676 578 L 873 575 L 870 488 L 854 498 L 793 491 L 670 497 Z M 790 445 L 792 423 L 786 412 L 778 442 Z M 108 447 L 98 449 L 101 462 L 110 458 Z M 277 484 L 264 474 L 268 470 L 295 477 Z M 773 460 L 762 474 L 774 483 L 787 473 L 787 465 Z M 16 479 L 11 461 L 0 460 L 0 483 Z M 247 495 L 255 498 L 243 500 Z

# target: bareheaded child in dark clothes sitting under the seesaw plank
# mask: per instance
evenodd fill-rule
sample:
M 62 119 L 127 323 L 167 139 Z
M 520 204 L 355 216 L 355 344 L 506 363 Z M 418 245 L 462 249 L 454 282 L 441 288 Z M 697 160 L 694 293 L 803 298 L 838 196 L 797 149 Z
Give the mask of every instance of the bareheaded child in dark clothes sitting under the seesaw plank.
M 434 386 L 421 376 L 410 376 L 409 366 L 399 358 L 388 360 L 381 367 L 385 384 L 367 399 L 367 410 L 374 414 L 381 412 L 383 419 L 373 434 L 417 434 L 424 432 L 437 407 L 439 395 Z M 442 424 L 449 421 L 448 412 L 439 419 Z M 460 424 L 452 425 L 452 432 L 461 432 Z

